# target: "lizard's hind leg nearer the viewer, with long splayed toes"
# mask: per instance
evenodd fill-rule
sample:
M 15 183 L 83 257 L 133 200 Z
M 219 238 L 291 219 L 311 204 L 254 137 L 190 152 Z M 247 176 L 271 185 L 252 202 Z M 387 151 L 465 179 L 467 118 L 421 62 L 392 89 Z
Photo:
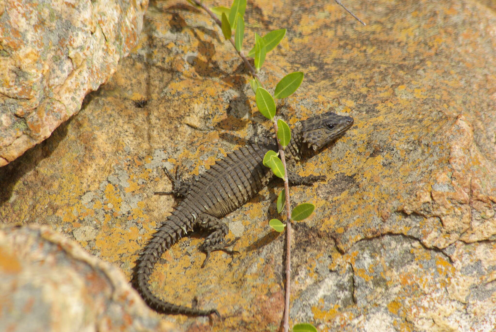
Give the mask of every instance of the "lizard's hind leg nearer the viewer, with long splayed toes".
M 203 261 L 201 267 L 205 266 L 208 259 L 210 258 L 210 253 L 212 251 L 222 250 L 230 255 L 239 254 L 238 251 L 227 249 L 228 247 L 233 246 L 239 240 L 239 238 L 236 238 L 232 241 L 224 240 L 224 237 L 229 232 L 229 228 L 224 222 L 206 213 L 199 215 L 198 218 L 200 219 L 200 229 L 210 233 L 199 248 L 201 251 L 207 254 L 207 256 L 205 257 L 205 261 Z

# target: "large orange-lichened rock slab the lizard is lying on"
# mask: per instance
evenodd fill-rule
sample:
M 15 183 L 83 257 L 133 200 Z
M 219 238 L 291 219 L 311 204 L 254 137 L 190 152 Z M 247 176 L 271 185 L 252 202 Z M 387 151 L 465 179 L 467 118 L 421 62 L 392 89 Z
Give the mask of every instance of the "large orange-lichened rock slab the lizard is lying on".
M 227 1 L 208 3 L 229 5 Z M 316 205 L 295 223 L 291 324 L 320 331 L 493 331 L 496 326 L 496 13 L 491 1 L 249 2 L 253 32 L 286 27 L 260 73 L 305 80 L 289 123 L 328 109 L 355 119 L 299 168 Z M 493 5 L 493 7 L 491 7 Z M 0 169 L 0 216 L 46 224 L 127 278 L 176 204 L 162 167 L 198 174 L 261 131 L 248 75 L 218 27 L 186 1 L 151 3 L 138 48 L 43 143 Z M 133 101 L 147 98 L 143 108 Z M 185 331 L 277 331 L 284 285 L 280 184 L 225 219 L 231 258 L 200 268 L 202 239 L 167 251 L 151 287 L 222 319 L 165 316 Z

